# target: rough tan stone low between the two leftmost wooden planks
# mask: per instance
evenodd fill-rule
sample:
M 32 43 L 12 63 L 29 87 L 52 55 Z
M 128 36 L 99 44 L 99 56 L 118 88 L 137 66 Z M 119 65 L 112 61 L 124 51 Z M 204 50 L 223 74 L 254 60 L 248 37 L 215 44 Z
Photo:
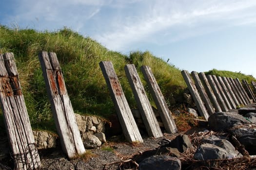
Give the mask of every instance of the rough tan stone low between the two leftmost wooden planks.
M 37 149 L 55 148 L 57 145 L 57 136 L 46 131 L 33 131 Z

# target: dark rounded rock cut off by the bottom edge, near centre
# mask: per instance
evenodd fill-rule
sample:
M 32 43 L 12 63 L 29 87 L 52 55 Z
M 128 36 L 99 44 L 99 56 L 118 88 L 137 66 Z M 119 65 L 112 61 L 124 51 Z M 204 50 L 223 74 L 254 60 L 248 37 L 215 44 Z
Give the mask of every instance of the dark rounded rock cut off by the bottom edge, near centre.
M 181 162 L 168 155 L 155 155 L 141 161 L 138 170 L 181 170 Z

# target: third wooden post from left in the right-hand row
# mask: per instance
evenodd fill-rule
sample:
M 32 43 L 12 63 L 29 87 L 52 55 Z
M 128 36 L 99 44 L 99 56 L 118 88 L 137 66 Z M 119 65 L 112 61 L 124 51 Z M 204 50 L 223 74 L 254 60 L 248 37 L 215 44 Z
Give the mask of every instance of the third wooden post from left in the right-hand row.
M 215 111 L 216 112 L 222 112 L 221 107 L 220 107 L 219 103 L 217 102 L 217 98 L 214 95 L 214 92 L 213 92 L 213 90 L 211 88 L 211 85 L 209 84 L 208 79 L 206 78 L 205 74 L 203 72 L 200 72 L 198 74 L 198 76 L 199 76 L 202 84 L 204 85 L 204 87 L 206 89 L 206 92 L 207 92 L 211 102 L 213 103 Z

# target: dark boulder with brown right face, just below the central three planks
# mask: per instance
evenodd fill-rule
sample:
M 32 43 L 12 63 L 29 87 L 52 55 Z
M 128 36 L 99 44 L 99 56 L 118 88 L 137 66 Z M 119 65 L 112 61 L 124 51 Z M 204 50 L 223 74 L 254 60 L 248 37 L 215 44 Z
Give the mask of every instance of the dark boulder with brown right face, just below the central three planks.
M 188 148 L 191 148 L 192 144 L 189 136 L 179 135 L 174 140 L 163 144 L 161 147 L 177 148 L 180 153 L 185 152 Z

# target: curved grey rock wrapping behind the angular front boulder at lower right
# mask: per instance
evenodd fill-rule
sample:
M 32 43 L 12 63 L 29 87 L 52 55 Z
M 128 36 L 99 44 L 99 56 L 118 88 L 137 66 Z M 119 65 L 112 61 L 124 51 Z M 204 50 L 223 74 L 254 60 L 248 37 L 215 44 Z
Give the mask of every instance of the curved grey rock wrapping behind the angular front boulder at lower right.
M 243 155 L 236 151 L 236 148 L 230 143 L 230 141 L 226 139 L 221 139 L 217 136 L 210 136 L 208 138 L 202 139 L 202 142 L 204 143 L 210 143 L 213 145 L 216 145 L 220 148 L 223 148 L 228 153 L 228 158 L 236 158 L 236 157 L 242 157 Z

